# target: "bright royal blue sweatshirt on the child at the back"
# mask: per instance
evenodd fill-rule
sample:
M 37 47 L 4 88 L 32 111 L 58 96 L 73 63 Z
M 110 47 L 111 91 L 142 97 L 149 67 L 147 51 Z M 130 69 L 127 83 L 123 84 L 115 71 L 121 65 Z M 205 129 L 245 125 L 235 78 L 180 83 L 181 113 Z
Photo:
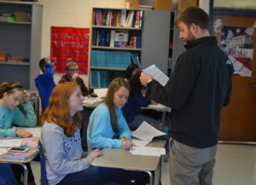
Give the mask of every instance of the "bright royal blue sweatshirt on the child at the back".
M 35 78 L 35 84 L 38 88 L 38 92 L 41 98 L 42 112 L 44 112 L 49 104 L 49 96 L 51 95 L 52 90 L 55 88 L 53 66 L 51 63 L 46 63 L 45 72 Z

